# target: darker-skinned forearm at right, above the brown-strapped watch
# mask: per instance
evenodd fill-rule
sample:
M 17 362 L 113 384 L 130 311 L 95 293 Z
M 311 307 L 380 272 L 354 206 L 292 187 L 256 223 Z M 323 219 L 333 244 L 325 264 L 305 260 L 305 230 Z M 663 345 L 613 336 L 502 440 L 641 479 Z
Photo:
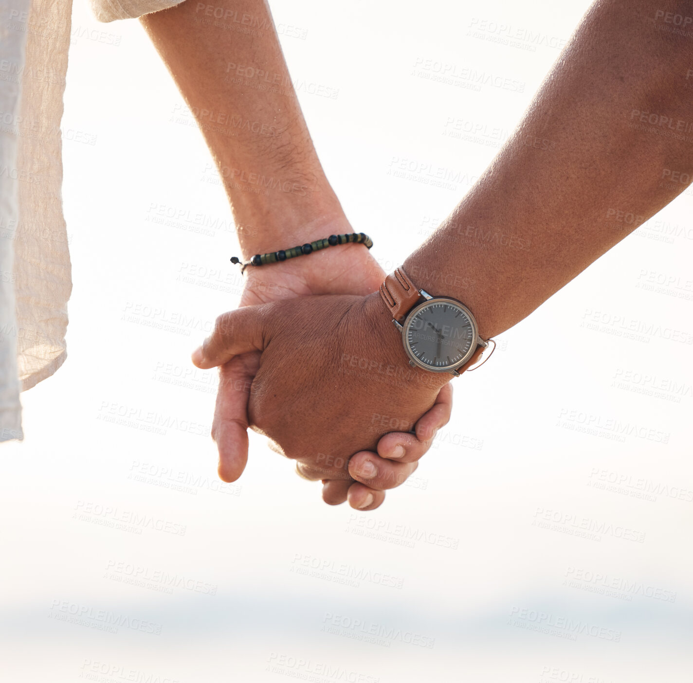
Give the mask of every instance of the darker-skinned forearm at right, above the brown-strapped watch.
M 482 336 L 526 317 L 685 189 L 693 42 L 656 16 L 681 4 L 595 4 L 489 170 L 405 262 L 417 286 L 464 301 Z

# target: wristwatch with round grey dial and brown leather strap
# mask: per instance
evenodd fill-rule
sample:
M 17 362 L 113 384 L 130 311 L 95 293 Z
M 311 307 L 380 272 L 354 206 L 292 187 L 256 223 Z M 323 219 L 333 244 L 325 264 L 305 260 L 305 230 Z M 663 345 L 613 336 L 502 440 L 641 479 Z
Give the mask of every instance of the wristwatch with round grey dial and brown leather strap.
M 450 296 L 431 296 L 419 290 L 401 266 L 380 285 L 380 296 L 402 333 L 412 367 L 459 377 L 489 346 L 479 336 L 471 310 Z

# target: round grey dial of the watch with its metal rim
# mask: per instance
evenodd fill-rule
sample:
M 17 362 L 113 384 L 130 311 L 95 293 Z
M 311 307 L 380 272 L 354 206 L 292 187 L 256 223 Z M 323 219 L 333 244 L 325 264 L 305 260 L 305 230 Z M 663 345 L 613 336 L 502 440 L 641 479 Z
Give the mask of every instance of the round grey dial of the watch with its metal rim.
M 477 347 L 477 326 L 461 303 L 435 298 L 412 309 L 404 324 L 403 339 L 416 364 L 445 372 L 472 355 Z

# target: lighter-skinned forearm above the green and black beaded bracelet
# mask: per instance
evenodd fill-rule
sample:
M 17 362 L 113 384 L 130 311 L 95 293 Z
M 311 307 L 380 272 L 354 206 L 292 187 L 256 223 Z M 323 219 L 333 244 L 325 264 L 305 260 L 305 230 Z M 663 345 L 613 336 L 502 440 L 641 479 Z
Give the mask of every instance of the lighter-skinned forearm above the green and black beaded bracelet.
M 324 237 L 340 215 L 263 0 L 188 0 L 141 19 L 198 119 L 245 257 Z M 311 226 L 315 224 L 315 235 Z

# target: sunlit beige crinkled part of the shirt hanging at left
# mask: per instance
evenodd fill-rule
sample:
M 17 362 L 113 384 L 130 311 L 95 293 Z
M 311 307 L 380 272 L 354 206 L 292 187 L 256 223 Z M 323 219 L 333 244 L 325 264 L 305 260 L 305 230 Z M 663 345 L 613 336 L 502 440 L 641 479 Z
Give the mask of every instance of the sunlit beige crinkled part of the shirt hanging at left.
M 15 234 L 17 366 L 22 389 L 65 360 L 72 289 L 62 217 L 62 96 L 70 46 L 70 3 L 33 0 L 21 79 L 19 222 Z

